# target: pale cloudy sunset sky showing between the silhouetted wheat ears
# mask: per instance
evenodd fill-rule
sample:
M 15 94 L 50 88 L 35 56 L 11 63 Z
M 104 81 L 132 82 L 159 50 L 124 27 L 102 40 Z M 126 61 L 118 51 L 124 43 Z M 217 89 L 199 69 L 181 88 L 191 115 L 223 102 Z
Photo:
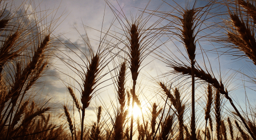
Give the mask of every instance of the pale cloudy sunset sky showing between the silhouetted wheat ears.
M 147 6 L 147 10 L 156 10 L 159 6 L 159 11 L 171 11 L 173 7 L 176 7 L 177 4 L 179 4 L 182 8 L 185 7 L 185 2 L 181 1 L 166 1 L 166 3 L 162 4 L 162 1 L 152 0 L 150 4 Z M 187 1 L 188 2 L 188 1 Z M 190 4 L 193 4 L 194 1 L 190 0 Z M 26 2 L 29 6 L 28 3 Z M 109 1 L 110 4 L 113 5 L 117 10 L 120 11 L 122 8 L 122 11 L 124 15 L 130 19 L 131 15 L 135 17 L 136 13 L 137 15 L 140 14 L 141 9 L 144 9 L 148 3 L 148 1 Z M 119 4 L 119 5 L 118 5 Z M 162 4 L 162 5 L 161 5 Z M 169 5 L 170 6 L 169 6 Z M 205 5 L 205 1 L 198 1 L 196 7 L 200 7 Z M 20 5 L 20 1 L 15 1 L 14 5 L 18 7 Z M 76 51 L 79 57 L 82 59 L 85 59 L 84 56 L 82 56 L 81 53 L 78 52 L 79 48 L 82 52 L 86 53 L 88 50 L 84 46 L 84 42 L 81 38 L 84 37 L 86 31 L 88 33 L 88 37 L 91 41 L 91 45 L 96 50 L 97 46 L 99 45 L 99 38 L 100 38 L 100 30 L 102 30 L 104 33 L 106 30 L 110 28 L 111 23 L 114 23 L 111 26 L 111 33 L 123 33 L 122 30 L 119 28 L 121 27 L 118 23 L 117 19 L 115 18 L 112 10 L 106 3 L 102 0 L 96 0 L 96 1 L 89 1 L 89 0 L 83 0 L 83 1 L 68 1 L 68 0 L 56 0 L 56 1 L 34 1 L 32 2 L 30 9 L 36 9 L 36 11 L 42 11 L 38 14 L 38 18 L 41 16 L 44 16 L 44 12 L 47 12 L 50 16 L 48 16 L 46 19 L 47 21 L 50 21 L 51 19 L 58 19 L 56 23 L 56 29 L 53 32 L 53 35 L 58 38 L 59 41 L 66 44 L 66 47 L 69 47 L 72 49 L 72 51 Z M 120 8 L 121 7 L 121 8 Z M 45 11 L 46 10 L 46 11 Z M 219 10 L 225 10 L 225 8 L 221 8 Z M 52 13 L 51 13 L 52 12 Z M 148 11 L 149 12 L 149 11 Z M 40 15 L 40 16 L 39 16 Z M 54 16 L 52 16 L 54 15 Z M 123 20 L 123 17 L 120 19 Z M 147 26 L 153 24 L 156 20 L 158 20 L 159 17 L 152 16 L 152 18 L 146 23 Z M 115 20 L 113 22 L 113 20 Z M 214 18 L 214 20 L 218 20 L 218 18 Z M 46 20 L 45 20 L 46 21 Z M 163 20 L 161 24 L 159 24 L 158 27 L 161 27 L 164 24 L 167 24 L 167 20 Z M 86 29 L 86 31 L 85 31 Z M 209 32 L 210 28 L 206 30 L 206 33 Z M 213 29 L 214 30 L 214 29 Z M 217 32 L 219 33 L 219 32 Z M 123 38 L 124 39 L 124 38 Z M 117 41 L 115 39 L 111 39 L 108 37 L 109 41 L 113 41 L 113 44 Z M 163 44 L 162 42 L 165 42 Z M 201 40 L 200 40 L 201 41 Z M 155 53 L 157 54 L 168 54 L 172 55 L 169 50 L 171 50 L 179 59 L 185 60 L 184 57 L 178 52 L 177 47 L 174 45 L 174 43 L 177 45 L 177 47 L 181 50 L 183 50 L 184 55 L 186 55 L 184 51 L 184 47 L 181 43 L 179 43 L 177 40 L 172 38 L 172 41 L 167 40 L 166 35 L 162 35 L 161 38 L 155 43 L 156 46 L 159 46 L 159 49 L 156 49 Z M 220 47 L 218 45 L 213 46 L 212 42 L 209 41 L 202 41 L 200 42 L 200 45 L 205 50 L 207 49 L 215 49 L 215 47 Z M 69 55 L 73 60 L 77 62 L 81 62 L 77 56 L 72 53 L 68 48 L 66 48 L 63 44 L 58 44 L 60 50 L 62 52 L 55 52 L 55 54 L 60 57 L 60 55 L 63 56 L 63 54 Z M 153 46 L 153 47 L 156 47 Z M 168 47 L 168 49 L 166 48 Z M 159 51 L 159 52 L 158 52 Z M 161 52 L 161 53 L 160 53 Z M 220 53 L 220 52 L 219 52 Z M 197 63 L 199 63 L 201 66 L 203 64 L 202 59 L 202 53 L 200 48 L 197 48 L 196 52 L 196 60 Z M 205 55 L 204 55 L 205 57 Z M 247 93 L 247 96 L 251 103 L 255 104 L 255 96 L 253 93 L 253 90 L 255 88 L 253 87 L 253 84 L 248 83 L 247 81 L 241 80 L 241 78 L 245 78 L 244 80 L 247 80 L 247 78 L 241 74 L 241 73 L 248 73 L 251 76 L 255 75 L 254 72 L 254 65 L 251 63 L 248 59 L 243 60 L 232 60 L 233 57 L 230 57 L 229 55 L 218 55 L 216 54 L 216 51 L 210 51 L 207 52 L 207 57 L 209 58 L 210 63 L 206 60 L 206 65 L 209 66 L 209 64 L 212 67 L 212 70 L 215 71 L 216 76 L 218 77 L 219 72 L 221 71 L 221 75 L 224 77 L 224 80 L 226 80 L 226 83 L 228 85 L 228 90 L 231 93 L 231 97 L 238 101 L 240 105 L 244 106 L 245 103 L 245 90 Z M 120 60 L 120 59 L 119 59 Z M 166 59 L 165 59 L 166 60 Z M 70 62 L 70 61 L 68 61 Z M 71 101 L 72 98 L 68 94 L 68 90 L 66 86 L 68 83 L 70 83 L 71 86 L 78 86 L 75 81 L 72 80 L 70 77 L 77 78 L 79 80 L 79 77 L 77 77 L 70 69 L 66 67 L 65 64 L 63 64 L 60 60 L 54 59 L 52 61 L 52 67 L 47 71 L 46 74 L 49 75 L 55 75 L 55 76 L 45 76 L 42 77 L 40 80 L 42 81 L 50 81 L 49 84 L 47 84 L 42 89 L 41 96 L 47 99 L 51 99 L 52 103 L 56 103 L 55 106 L 61 106 L 64 103 L 69 104 L 71 108 Z M 104 72 L 108 72 L 109 69 L 113 69 L 112 63 L 109 64 L 109 67 L 106 67 L 104 69 Z M 127 69 L 129 71 L 129 69 Z M 164 100 L 162 99 L 162 93 L 160 93 L 160 87 L 158 87 L 157 82 L 163 81 L 168 82 L 172 81 L 173 75 L 164 75 L 163 73 L 168 73 L 170 71 L 169 67 L 166 67 L 166 64 L 164 64 L 161 61 L 161 58 L 157 57 L 156 54 L 151 53 L 147 56 L 147 59 L 145 59 L 142 63 L 142 69 L 139 73 L 138 77 L 138 92 L 139 98 L 142 101 L 142 104 L 144 105 L 145 111 L 151 110 L 151 105 L 154 102 L 157 102 L 157 104 L 161 104 L 161 102 Z M 241 73 L 240 73 L 241 72 Z M 114 74 L 114 73 L 112 73 Z M 69 77 L 69 76 L 70 77 Z M 104 81 L 105 79 L 110 78 L 110 73 L 103 77 L 101 81 Z M 127 90 L 131 87 L 131 74 L 130 72 L 127 74 Z M 244 83 L 245 82 L 245 83 Z M 102 85 L 106 86 L 100 90 L 98 90 L 91 101 L 91 104 L 89 108 L 87 109 L 87 115 L 90 116 L 90 118 L 87 120 L 87 122 L 95 121 L 95 108 L 99 105 L 103 106 L 104 109 L 108 109 L 110 105 L 117 105 L 116 101 L 116 94 L 114 85 L 112 84 L 113 80 L 106 80 L 102 83 Z M 244 84 L 246 86 L 250 86 L 252 90 L 249 88 L 244 88 Z M 107 86 L 110 85 L 110 86 Z M 199 88 L 199 86 L 203 87 L 202 85 L 197 84 L 197 99 L 198 99 L 198 117 L 200 117 L 201 111 L 203 112 L 203 109 L 200 107 L 201 103 L 205 104 L 203 100 L 200 100 L 202 96 L 205 96 L 205 91 L 203 88 Z M 186 87 L 186 86 L 185 86 Z M 205 86 L 204 86 L 205 87 Z M 78 88 L 78 87 L 77 87 Z M 189 102 L 190 98 L 188 97 L 188 91 L 186 88 L 181 88 L 181 91 L 184 92 L 184 100 Z M 77 97 L 79 98 L 79 93 L 76 91 Z M 112 102 L 111 102 L 112 101 Z M 150 104 L 146 104 L 150 102 Z M 228 106 L 228 103 L 227 103 Z M 56 110 L 61 110 L 60 108 L 56 107 Z M 225 114 L 225 113 L 224 113 Z M 108 115 L 106 115 L 108 116 Z M 106 117 L 107 118 L 107 117 Z

